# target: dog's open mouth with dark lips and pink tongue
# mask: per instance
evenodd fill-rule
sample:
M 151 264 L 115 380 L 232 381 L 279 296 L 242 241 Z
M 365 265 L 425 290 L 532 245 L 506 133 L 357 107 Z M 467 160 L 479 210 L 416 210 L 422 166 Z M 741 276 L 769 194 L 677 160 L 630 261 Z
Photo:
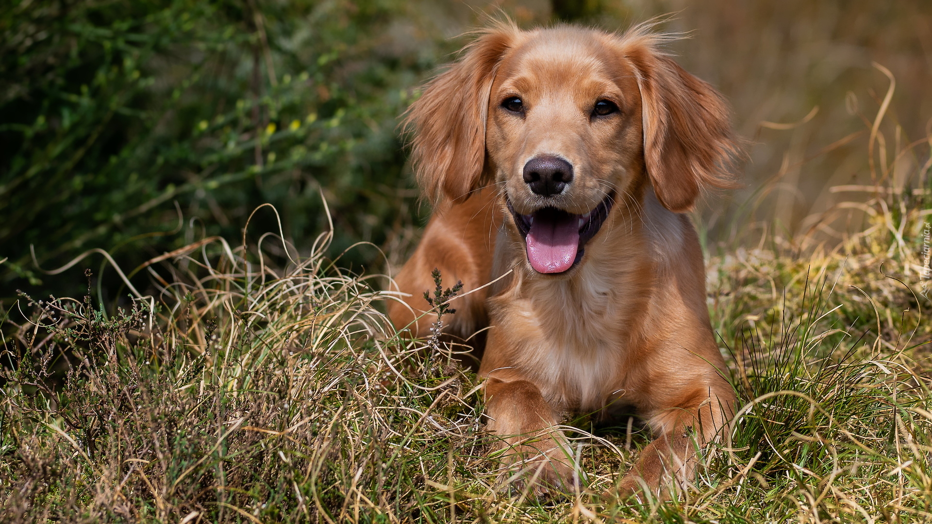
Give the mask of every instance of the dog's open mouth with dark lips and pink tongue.
M 609 195 L 587 214 L 571 214 L 554 207 L 518 214 L 511 200 L 505 199 L 525 239 L 528 262 L 540 273 L 562 273 L 578 264 L 583 259 L 585 242 L 596 236 L 609 217 L 612 201 Z

